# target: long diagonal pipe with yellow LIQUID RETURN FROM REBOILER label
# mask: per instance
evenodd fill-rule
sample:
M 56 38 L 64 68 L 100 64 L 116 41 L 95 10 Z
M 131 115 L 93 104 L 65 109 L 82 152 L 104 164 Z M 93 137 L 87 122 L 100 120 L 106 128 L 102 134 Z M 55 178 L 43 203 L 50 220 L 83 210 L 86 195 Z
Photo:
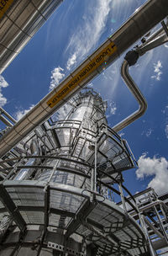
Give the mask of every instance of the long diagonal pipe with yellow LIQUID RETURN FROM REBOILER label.
M 54 88 L 44 99 L 29 111 L 27 115 L 18 121 L 16 125 L 4 134 L 0 139 L 0 157 L 3 157 L 9 150 L 11 150 L 18 141 L 21 141 L 24 136 L 27 136 L 29 132 L 42 124 L 45 120 L 50 118 L 50 115 L 54 114 L 57 109 L 60 108 L 65 102 L 67 102 L 75 93 L 79 92 L 83 86 L 89 83 L 94 77 L 96 77 L 105 67 L 108 67 L 113 61 L 118 59 L 123 51 L 126 51 L 131 45 L 145 35 L 150 29 L 158 24 L 162 19 L 168 15 L 168 1 L 167 0 L 149 0 L 139 10 L 137 10 L 128 21 L 122 25 L 108 40 L 106 40 L 94 53 L 84 61 L 81 66 L 77 67 L 69 77 Z M 83 77 L 81 83 L 76 83 L 76 87 L 72 87 L 71 90 L 65 91 L 65 87 L 68 82 L 71 81 L 76 74 L 79 74 L 83 68 L 88 67 L 92 60 L 97 58 L 100 53 L 103 53 L 104 49 L 107 49 L 108 45 L 114 44 L 115 51 L 111 56 L 104 57 L 103 63 L 95 68 L 93 72 L 90 72 L 88 76 Z M 59 100 L 52 108 L 47 104 L 50 99 L 55 98 L 55 94 L 65 93 L 65 97 Z M 55 101 L 55 100 L 54 100 Z

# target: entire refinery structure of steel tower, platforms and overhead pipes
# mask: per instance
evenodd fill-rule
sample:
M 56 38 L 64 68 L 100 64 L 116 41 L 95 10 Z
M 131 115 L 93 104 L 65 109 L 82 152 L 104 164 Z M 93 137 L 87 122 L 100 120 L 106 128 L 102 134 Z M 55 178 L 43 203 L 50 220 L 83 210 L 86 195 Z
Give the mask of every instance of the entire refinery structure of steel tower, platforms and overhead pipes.
M 2 72 L 60 2 L 3 1 Z M 123 186 L 137 163 L 117 132 L 147 107 L 129 66 L 167 41 L 167 15 L 167 0 L 149 0 L 21 120 L 0 109 L 0 255 L 166 255 L 168 195 Z M 107 103 L 85 86 L 158 23 L 121 69 L 139 109 L 111 128 Z

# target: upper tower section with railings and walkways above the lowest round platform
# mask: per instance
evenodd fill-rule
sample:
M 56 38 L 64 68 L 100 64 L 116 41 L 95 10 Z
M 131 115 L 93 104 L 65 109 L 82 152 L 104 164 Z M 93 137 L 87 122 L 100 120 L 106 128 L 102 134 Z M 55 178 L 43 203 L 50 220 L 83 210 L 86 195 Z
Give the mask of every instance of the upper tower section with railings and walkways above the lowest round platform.
M 96 190 L 97 171 L 103 169 L 105 173 L 118 175 L 118 172 L 134 168 L 132 154 L 126 143 L 108 127 L 106 103 L 100 96 L 92 89 L 85 88 L 71 99 L 70 105 L 72 104 L 71 108 L 69 103 L 66 106 L 68 110 L 65 119 L 51 124 L 46 122 L 41 126 L 43 129 L 39 127 L 28 139 L 24 138 L 18 143 L 15 151 L 19 156 L 22 153 L 25 164 L 18 164 L 21 159 L 14 156 L 13 151 L 8 153 L 7 158 L 3 158 L 0 167 L 5 176 L 11 173 L 8 177 L 12 179 L 13 168 L 17 166 L 14 179 L 28 179 L 27 174 L 30 177 L 35 173 L 35 179 L 50 180 L 51 177 L 51 181 L 62 179 L 64 183 L 78 187 L 85 184 L 87 189 L 91 189 L 89 178 L 94 172 L 92 189 Z M 56 170 L 59 170 L 59 174 L 56 174 Z M 108 177 L 104 176 L 102 179 L 108 182 Z

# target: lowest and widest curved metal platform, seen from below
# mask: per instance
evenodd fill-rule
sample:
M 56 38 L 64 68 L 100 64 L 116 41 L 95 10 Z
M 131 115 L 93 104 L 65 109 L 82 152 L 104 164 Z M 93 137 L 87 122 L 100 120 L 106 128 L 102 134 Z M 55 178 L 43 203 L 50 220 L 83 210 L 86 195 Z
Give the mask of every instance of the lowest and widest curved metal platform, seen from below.
M 85 189 L 41 181 L 6 181 L 1 184 L 0 196 L 4 205 L 0 205 L 0 216 L 12 212 L 20 232 L 34 225 L 45 227 L 45 232 L 59 232 L 62 237 L 77 234 L 85 238 L 88 250 L 89 247 L 98 248 L 95 255 L 147 255 L 146 239 L 139 224 L 113 201 L 97 193 L 94 195 L 91 202 L 91 193 Z M 65 239 L 60 241 L 57 244 L 65 246 Z M 4 247 L 10 243 L 8 237 Z M 33 246 L 34 240 L 29 243 Z M 44 244 L 52 248 L 55 239 L 46 236 Z M 26 247 L 26 241 L 22 246 Z

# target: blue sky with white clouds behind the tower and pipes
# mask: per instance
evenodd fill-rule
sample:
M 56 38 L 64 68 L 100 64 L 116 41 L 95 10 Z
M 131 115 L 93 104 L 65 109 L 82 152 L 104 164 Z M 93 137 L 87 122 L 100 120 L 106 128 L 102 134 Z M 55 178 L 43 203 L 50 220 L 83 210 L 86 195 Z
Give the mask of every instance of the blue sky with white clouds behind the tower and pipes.
M 13 117 L 20 118 L 143 3 L 144 0 L 65 0 L 3 72 L 0 104 Z M 124 173 L 125 185 L 132 193 L 148 185 L 159 193 L 167 187 L 167 53 L 168 44 L 162 45 L 130 68 L 148 101 L 146 114 L 119 132 L 139 162 L 138 170 Z M 111 127 L 138 108 L 120 76 L 123 56 L 90 84 L 108 101 Z

